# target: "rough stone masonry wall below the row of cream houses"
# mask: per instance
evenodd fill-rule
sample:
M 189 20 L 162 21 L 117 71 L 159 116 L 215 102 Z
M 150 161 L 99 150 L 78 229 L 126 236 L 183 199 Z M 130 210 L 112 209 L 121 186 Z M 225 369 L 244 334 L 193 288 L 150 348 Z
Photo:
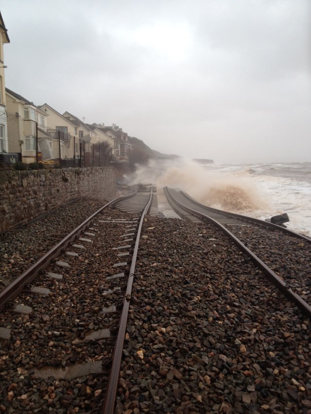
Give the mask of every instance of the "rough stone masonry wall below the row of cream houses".
M 113 167 L 0 172 L 0 232 L 79 197 L 113 198 Z

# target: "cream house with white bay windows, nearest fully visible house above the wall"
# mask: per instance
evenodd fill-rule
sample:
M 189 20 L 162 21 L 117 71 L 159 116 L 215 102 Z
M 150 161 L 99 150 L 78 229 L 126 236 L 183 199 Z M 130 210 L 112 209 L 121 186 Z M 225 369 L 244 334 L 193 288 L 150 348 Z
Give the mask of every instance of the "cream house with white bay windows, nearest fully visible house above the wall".
M 21 152 L 24 163 L 36 161 L 36 150 L 42 153 L 48 140 L 47 114 L 34 102 L 5 88 L 8 151 Z M 36 142 L 38 137 L 38 148 Z

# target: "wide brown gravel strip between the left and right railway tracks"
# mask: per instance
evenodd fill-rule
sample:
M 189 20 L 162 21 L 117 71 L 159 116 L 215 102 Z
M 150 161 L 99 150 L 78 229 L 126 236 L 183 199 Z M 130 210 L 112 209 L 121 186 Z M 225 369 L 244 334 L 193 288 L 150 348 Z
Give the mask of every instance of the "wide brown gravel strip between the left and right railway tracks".
M 208 225 L 149 218 L 118 413 L 311 413 L 311 324 Z

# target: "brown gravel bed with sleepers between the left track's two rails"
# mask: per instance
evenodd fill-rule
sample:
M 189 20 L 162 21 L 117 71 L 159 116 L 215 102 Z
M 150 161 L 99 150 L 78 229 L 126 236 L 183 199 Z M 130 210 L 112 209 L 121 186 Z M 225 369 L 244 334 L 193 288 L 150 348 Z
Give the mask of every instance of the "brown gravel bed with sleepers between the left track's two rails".
M 0 348 L 0 412 L 100 412 L 126 287 L 113 276 L 129 268 L 123 256 L 115 268 L 117 247 L 132 219 L 105 210 L 1 312 L 10 337 Z M 50 294 L 33 293 L 33 284 Z

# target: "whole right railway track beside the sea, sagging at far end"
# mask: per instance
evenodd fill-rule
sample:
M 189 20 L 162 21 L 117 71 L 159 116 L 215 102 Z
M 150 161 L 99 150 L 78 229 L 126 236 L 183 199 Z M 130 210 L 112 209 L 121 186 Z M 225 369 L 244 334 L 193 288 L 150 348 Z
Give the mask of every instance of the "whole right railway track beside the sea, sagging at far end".
M 278 289 L 311 318 L 310 274 L 308 274 L 308 267 L 307 272 L 299 271 L 307 262 L 309 266 L 311 264 L 311 239 L 258 219 L 209 208 L 191 199 L 182 191 L 166 187 L 165 194 L 172 208 L 181 217 L 191 221 L 209 220 L 222 229 L 276 284 Z M 257 237 L 254 237 L 255 232 L 259 233 L 259 236 L 257 234 Z M 268 247 L 270 244 L 267 243 L 267 240 L 271 237 L 274 238 L 276 232 L 282 233 L 282 243 L 285 246 L 284 256 L 280 253 L 280 245 L 274 251 Z M 258 239 L 262 241 L 260 248 L 258 247 Z M 252 243 L 253 240 L 256 240 L 256 243 Z M 286 271 L 290 272 L 290 265 L 284 266 L 288 248 L 296 249 L 294 256 L 297 260 L 297 263 L 292 266 L 294 274 L 290 275 L 286 273 Z M 276 274 L 273 269 L 281 270 L 282 266 L 284 273 L 278 272 Z

